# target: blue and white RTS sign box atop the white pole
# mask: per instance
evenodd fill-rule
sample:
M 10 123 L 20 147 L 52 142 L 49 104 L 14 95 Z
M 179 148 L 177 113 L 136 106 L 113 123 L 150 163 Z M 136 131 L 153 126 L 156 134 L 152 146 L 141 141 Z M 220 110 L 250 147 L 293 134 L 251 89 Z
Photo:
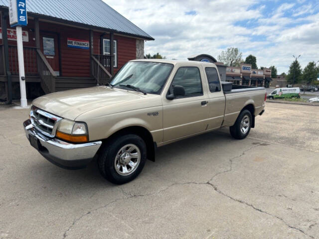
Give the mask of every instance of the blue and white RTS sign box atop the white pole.
M 10 25 L 12 26 L 26 26 L 26 0 L 9 0 L 9 17 Z

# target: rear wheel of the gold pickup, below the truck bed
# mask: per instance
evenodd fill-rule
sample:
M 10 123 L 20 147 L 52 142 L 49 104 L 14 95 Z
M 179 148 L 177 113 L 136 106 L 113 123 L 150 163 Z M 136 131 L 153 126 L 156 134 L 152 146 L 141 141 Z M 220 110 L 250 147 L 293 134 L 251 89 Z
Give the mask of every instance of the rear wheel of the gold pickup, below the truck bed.
M 236 139 L 246 138 L 251 129 L 251 124 L 252 116 L 250 111 L 242 111 L 236 119 L 235 124 L 229 127 L 231 136 L 233 136 Z

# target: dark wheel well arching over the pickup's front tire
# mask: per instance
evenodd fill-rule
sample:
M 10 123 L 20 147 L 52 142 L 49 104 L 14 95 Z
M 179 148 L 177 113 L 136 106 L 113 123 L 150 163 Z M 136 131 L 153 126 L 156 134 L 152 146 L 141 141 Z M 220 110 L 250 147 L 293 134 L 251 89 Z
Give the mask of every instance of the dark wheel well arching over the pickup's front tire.
M 142 126 L 130 126 L 130 127 L 122 128 L 119 131 L 117 131 L 117 132 L 113 133 L 112 135 L 110 135 L 107 139 L 104 140 L 103 143 L 107 143 L 108 141 L 112 140 L 112 138 L 114 138 L 114 137 L 117 137 L 117 136 L 120 136 L 120 135 L 129 134 L 129 133 L 133 133 L 133 134 L 139 135 L 141 138 L 143 138 L 143 140 L 146 143 L 146 147 L 147 147 L 147 157 L 148 157 L 148 159 L 150 159 L 151 161 L 155 161 L 156 142 L 153 141 L 152 134 L 145 127 L 142 127 Z

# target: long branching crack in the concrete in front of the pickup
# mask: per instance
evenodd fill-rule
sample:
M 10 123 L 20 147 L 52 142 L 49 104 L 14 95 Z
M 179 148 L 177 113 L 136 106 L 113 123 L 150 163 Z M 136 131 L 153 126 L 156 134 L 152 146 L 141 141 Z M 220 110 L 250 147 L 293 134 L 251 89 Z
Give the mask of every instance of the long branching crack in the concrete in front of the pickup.
M 96 211 L 98 211 L 98 210 L 100 210 L 100 209 L 102 209 L 102 208 L 106 208 L 106 207 L 108 207 L 109 205 L 111 205 L 112 203 L 116 203 L 117 201 L 120 201 L 120 200 L 127 200 L 127 199 L 131 199 L 131 198 L 146 197 L 146 196 L 152 196 L 152 195 L 160 194 L 160 193 L 162 193 L 162 192 L 168 190 L 170 187 L 173 187 L 173 186 L 176 186 L 176 185 L 186 185 L 186 184 L 208 185 L 210 188 L 212 187 L 212 188 L 214 189 L 214 191 L 216 191 L 216 192 L 219 193 L 220 195 L 223 195 L 223 196 L 225 196 L 225 197 L 231 199 L 231 200 L 234 201 L 234 202 L 238 202 L 238 203 L 244 204 L 244 205 L 246 205 L 246 206 L 248 206 L 248 207 L 254 209 L 254 210 L 257 211 L 257 212 L 260 212 L 260 213 L 266 214 L 266 215 L 268 215 L 268 216 L 270 216 L 270 217 L 276 218 L 276 219 L 282 221 L 288 228 L 293 229 L 293 230 L 296 230 L 296 231 L 298 231 L 298 232 L 304 234 L 305 236 L 307 236 L 307 237 L 309 237 L 309 238 L 311 238 L 311 239 L 315 239 L 313 236 L 308 235 L 307 233 L 305 233 L 305 231 L 303 231 L 302 229 L 296 228 L 296 227 L 293 227 L 293 226 L 289 225 L 283 218 L 281 218 L 281 217 L 279 217 L 279 216 L 276 216 L 276 215 L 273 215 L 273 214 L 271 214 L 271 213 L 268 213 L 268 212 L 266 212 L 266 211 L 264 211 L 264 210 L 262 210 L 262 209 L 259 209 L 259 208 L 255 207 L 254 205 L 252 205 L 252 204 L 250 204 L 250 203 L 247 203 L 247 202 L 245 202 L 245 201 L 243 201 L 243 200 L 233 198 L 233 197 L 227 195 L 226 193 L 222 192 L 221 190 L 219 190 L 219 189 L 217 188 L 217 186 L 215 186 L 213 183 L 211 183 L 211 181 L 212 181 L 217 175 L 220 175 L 220 174 L 223 174 L 223 173 L 226 173 L 226 172 L 230 172 L 230 171 L 232 170 L 232 164 L 233 164 L 233 160 L 234 160 L 234 159 L 242 157 L 243 155 L 245 155 L 246 152 L 252 150 L 252 149 L 255 148 L 255 147 L 260 146 L 261 144 L 262 144 L 262 143 L 256 144 L 256 145 L 254 145 L 253 147 L 250 147 L 250 148 L 244 150 L 240 155 L 237 155 L 237 156 L 232 157 L 231 159 L 229 159 L 229 162 L 230 162 L 229 169 L 224 170 L 224 171 L 222 171 L 222 172 L 216 173 L 216 174 L 213 175 L 213 176 L 211 177 L 211 179 L 208 180 L 207 182 L 172 183 L 172 184 L 168 185 L 167 187 L 165 187 L 164 189 L 161 189 L 161 190 L 159 190 L 159 191 L 157 191 L 157 192 L 154 192 L 154 193 L 147 193 L 147 194 L 132 194 L 132 193 L 126 192 L 122 187 L 120 187 L 120 190 L 122 191 L 122 193 L 123 193 L 125 196 L 127 196 L 126 198 L 118 198 L 118 199 L 115 199 L 115 200 L 113 200 L 113 201 L 111 201 L 111 202 L 109 202 L 109 203 L 107 203 L 107 204 L 105 204 L 105 205 L 103 205 L 103 206 L 101 206 L 101 207 L 98 207 L 98 208 L 96 208 L 96 209 L 94 209 L 94 210 L 92 210 L 92 211 L 89 211 L 89 212 L 87 212 L 87 213 L 85 213 L 85 214 L 82 214 L 79 218 L 75 219 L 75 220 L 73 221 L 73 223 L 71 224 L 71 226 L 64 232 L 64 234 L 63 234 L 63 239 L 65 239 L 65 238 L 67 237 L 67 233 L 68 233 L 68 232 L 72 229 L 72 227 L 73 227 L 78 221 L 80 221 L 83 217 L 85 217 L 85 216 L 91 214 L 92 212 L 96 212 Z M 311 225 L 311 226 L 315 226 L 315 225 Z M 311 227 L 310 227 L 310 228 L 311 228 Z

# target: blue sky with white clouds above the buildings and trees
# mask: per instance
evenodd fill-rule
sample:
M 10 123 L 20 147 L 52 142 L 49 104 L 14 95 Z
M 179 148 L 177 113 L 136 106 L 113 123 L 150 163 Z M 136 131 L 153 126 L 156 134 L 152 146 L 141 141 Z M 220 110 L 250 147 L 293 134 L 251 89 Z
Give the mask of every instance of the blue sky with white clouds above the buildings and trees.
M 155 41 L 145 52 L 185 60 L 197 53 L 217 58 L 238 47 L 257 65 L 287 72 L 293 56 L 304 68 L 319 61 L 319 0 L 104 0 Z

